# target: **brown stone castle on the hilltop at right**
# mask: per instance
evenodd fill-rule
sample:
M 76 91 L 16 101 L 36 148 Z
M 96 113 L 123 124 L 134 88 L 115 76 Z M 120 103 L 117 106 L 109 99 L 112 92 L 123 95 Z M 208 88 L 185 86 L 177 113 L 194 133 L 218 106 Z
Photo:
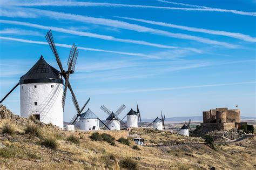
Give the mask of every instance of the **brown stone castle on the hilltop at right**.
M 240 109 L 216 108 L 203 112 L 201 126 L 216 128 L 217 130 L 231 130 L 240 128 L 246 123 L 240 122 Z

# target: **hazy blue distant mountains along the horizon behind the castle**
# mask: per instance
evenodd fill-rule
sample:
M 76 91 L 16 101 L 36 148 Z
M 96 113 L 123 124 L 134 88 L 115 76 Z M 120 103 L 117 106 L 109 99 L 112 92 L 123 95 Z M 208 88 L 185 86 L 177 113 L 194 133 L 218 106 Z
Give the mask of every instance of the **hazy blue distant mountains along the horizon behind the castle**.
M 192 116 L 192 117 L 172 117 L 172 118 L 165 118 L 165 121 L 203 121 L 202 116 Z M 154 119 L 143 119 L 142 121 L 153 121 Z M 256 117 L 246 117 L 241 115 L 241 120 L 256 120 Z

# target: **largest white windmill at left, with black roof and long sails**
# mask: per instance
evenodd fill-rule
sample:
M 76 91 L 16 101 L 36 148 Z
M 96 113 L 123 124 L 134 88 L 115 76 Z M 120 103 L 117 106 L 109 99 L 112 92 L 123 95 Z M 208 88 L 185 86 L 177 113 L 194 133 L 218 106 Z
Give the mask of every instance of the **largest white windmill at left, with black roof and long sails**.
M 51 30 L 45 37 L 56 57 L 60 71 L 46 63 L 43 56 L 41 56 L 37 63 L 21 77 L 19 83 L 5 95 L 0 103 L 20 85 L 21 116 L 28 118 L 30 115 L 33 115 L 37 120 L 45 124 L 52 123 L 63 129 L 63 111 L 67 89 L 72 94 L 72 100 L 77 111 L 82 112 L 83 110 L 80 110 L 75 93 L 69 82 L 70 74 L 75 71 L 78 50 L 76 45 L 73 44 L 68 59 L 68 71 L 65 71 L 60 62 Z M 64 92 L 64 81 L 62 78 L 65 79 Z

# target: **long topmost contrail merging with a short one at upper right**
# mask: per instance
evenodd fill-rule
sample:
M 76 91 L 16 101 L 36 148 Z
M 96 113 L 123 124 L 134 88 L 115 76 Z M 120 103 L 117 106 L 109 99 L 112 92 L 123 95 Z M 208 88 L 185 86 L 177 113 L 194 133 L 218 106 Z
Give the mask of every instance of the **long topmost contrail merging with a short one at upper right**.
M 103 6 L 103 7 L 118 7 L 118 8 L 148 8 L 148 9 L 169 9 L 169 10 L 184 10 L 184 11 L 213 11 L 213 12 L 231 12 L 238 15 L 247 15 L 247 16 L 256 16 L 256 12 L 245 12 L 238 10 L 230 10 L 230 9 L 218 9 L 218 8 L 210 8 L 206 6 L 200 5 L 192 5 L 185 3 L 176 3 L 170 1 L 158 0 L 159 2 L 165 2 L 174 5 L 183 5 L 189 6 L 192 8 L 174 8 L 174 7 L 166 7 L 166 6 L 152 6 L 152 5 L 130 5 L 130 4 L 116 4 L 116 3 L 94 3 L 94 2 L 77 2 L 77 1 L 31 1 L 31 2 L 20 2 L 20 1 L 3 1 L 2 5 L 12 5 L 12 6 Z M 23 14 L 24 15 L 24 14 Z

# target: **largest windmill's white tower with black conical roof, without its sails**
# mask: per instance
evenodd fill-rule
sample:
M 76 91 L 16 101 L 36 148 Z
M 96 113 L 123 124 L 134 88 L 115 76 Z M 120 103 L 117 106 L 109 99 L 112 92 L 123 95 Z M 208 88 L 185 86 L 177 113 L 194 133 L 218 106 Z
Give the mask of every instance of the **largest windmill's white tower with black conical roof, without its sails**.
M 21 116 L 33 115 L 45 124 L 63 129 L 63 79 L 60 72 L 45 62 L 43 56 L 19 80 Z

